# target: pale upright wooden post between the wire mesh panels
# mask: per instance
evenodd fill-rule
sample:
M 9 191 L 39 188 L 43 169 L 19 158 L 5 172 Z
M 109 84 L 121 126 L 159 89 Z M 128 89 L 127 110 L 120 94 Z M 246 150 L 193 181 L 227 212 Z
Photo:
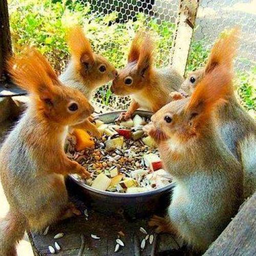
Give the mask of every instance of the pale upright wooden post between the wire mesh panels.
M 180 9 L 174 36 L 170 63 L 181 74 L 185 74 L 191 39 L 196 24 L 199 0 L 180 0 Z

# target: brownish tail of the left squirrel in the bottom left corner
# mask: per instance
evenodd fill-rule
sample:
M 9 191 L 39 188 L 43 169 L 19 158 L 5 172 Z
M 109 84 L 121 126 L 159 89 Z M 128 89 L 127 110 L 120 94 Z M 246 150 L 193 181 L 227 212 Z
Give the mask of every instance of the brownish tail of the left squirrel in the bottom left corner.
M 27 227 L 27 221 L 21 215 L 9 211 L 6 217 L 0 220 L 0 255 L 15 256 L 16 244 L 22 240 Z

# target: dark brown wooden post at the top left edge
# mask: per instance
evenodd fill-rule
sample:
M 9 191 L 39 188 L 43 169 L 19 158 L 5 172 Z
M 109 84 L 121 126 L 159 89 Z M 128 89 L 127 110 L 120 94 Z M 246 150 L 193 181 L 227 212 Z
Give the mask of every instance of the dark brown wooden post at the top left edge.
M 0 1 L 0 78 L 4 73 L 6 57 L 12 53 L 7 0 Z

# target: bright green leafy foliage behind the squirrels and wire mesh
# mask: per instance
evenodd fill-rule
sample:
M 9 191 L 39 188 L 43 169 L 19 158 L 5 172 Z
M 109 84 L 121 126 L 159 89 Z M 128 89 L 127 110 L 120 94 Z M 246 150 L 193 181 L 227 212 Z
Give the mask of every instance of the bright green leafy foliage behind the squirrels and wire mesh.
M 131 0 L 132 1 L 132 0 Z M 134 0 L 133 0 L 134 1 Z M 44 53 L 55 70 L 63 71 L 69 58 L 65 40 L 67 28 L 80 24 L 92 42 L 93 49 L 108 58 L 117 69 L 125 66 L 126 56 L 138 29 L 147 28 L 156 41 L 156 66 L 166 66 L 175 25 L 154 17 L 136 14 L 136 21 L 116 23 L 117 12 L 96 15 L 87 1 L 75 0 L 9 0 L 10 25 L 14 50 L 35 46 Z M 111 26 L 110 26 L 111 24 Z M 205 39 L 194 41 L 188 58 L 187 72 L 203 67 L 209 50 L 204 48 Z M 244 106 L 255 110 L 256 68 L 239 72 L 237 84 Z M 111 92 L 100 90 L 102 102 L 109 103 Z

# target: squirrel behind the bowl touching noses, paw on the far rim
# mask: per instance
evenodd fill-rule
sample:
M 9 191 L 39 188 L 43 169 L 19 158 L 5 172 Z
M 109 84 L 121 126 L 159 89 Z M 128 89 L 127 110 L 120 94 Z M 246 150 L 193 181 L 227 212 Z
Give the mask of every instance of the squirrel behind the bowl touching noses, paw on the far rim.
M 132 42 L 128 63 L 113 80 L 111 91 L 131 95 L 132 102 L 119 120 L 131 118 L 142 108 L 155 113 L 172 100 L 170 92 L 178 91 L 183 78 L 171 67 L 156 69 L 153 65 L 154 42 L 150 34 L 138 32 Z

